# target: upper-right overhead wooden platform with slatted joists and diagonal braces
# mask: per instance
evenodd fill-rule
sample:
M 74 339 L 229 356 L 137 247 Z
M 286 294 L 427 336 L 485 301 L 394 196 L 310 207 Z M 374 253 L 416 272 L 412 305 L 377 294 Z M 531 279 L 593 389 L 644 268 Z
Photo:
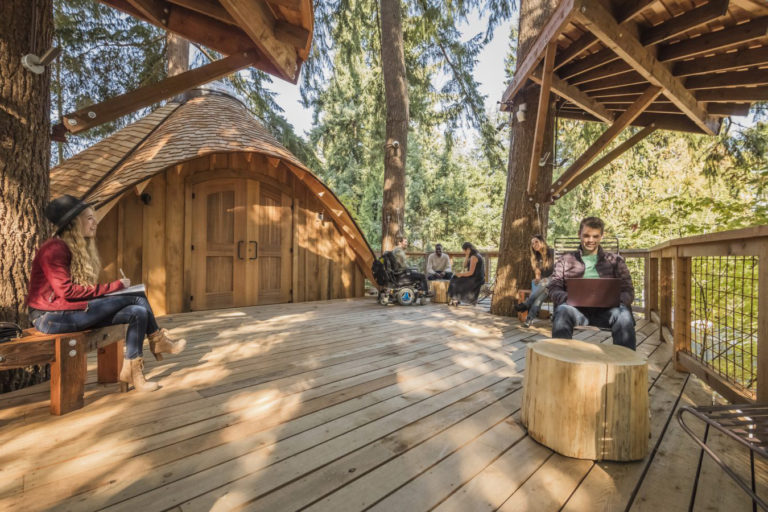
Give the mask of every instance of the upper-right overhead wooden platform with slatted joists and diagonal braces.
M 764 1 L 562 0 L 501 102 L 515 111 L 523 87 L 540 90 L 529 196 L 557 199 L 656 129 L 716 134 L 723 117 L 768 100 L 766 68 Z M 608 128 L 555 178 L 549 197 L 534 198 L 550 94 L 557 116 Z M 630 126 L 644 129 L 589 166 Z

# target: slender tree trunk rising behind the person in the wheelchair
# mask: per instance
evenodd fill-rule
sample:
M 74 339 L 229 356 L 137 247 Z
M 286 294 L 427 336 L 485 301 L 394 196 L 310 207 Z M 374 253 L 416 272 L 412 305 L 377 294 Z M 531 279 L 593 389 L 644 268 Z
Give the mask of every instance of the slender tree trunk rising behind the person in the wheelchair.
M 395 246 L 405 220 L 405 156 L 408 147 L 408 80 L 405 76 L 400 0 L 381 0 L 381 67 L 387 105 L 381 250 Z

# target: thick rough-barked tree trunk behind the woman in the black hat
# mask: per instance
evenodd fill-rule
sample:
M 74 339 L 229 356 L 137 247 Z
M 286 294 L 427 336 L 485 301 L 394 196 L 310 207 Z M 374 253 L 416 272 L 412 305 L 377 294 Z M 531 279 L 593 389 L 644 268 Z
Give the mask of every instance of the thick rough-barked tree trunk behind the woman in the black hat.
M 48 233 L 50 68 L 36 75 L 22 56 L 41 56 L 53 38 L 52 0 L 0 2 L 0 320 L 28 325 L 29 270 Z M 0 372 L 0 392 L 40 382 L 45 368 Z

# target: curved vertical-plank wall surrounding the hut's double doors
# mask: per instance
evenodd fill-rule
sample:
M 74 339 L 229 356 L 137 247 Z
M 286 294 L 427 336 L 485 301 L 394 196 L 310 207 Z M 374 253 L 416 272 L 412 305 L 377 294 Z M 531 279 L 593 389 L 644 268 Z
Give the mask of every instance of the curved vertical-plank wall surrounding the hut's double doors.
M 291 302 L 364 294 L 355 253 L 332 216 L 279 159 L 255 153 L 204 156 L 128 190 L 99 224 L 102 279 L 116 279 L 122 268 L 146 284 L 156 314 L 189 311 L 191 183 L 219 177 L 255 179 L 292 198 Z

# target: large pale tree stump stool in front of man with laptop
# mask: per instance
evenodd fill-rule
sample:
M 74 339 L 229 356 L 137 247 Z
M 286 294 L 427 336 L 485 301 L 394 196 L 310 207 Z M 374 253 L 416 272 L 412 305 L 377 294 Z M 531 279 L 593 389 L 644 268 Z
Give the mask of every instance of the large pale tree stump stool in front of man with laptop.
M 618 345 L 543 340 L 528 347 L 522 423 L 561 455 L 639 460 L 648 452 L 648 363 Z

